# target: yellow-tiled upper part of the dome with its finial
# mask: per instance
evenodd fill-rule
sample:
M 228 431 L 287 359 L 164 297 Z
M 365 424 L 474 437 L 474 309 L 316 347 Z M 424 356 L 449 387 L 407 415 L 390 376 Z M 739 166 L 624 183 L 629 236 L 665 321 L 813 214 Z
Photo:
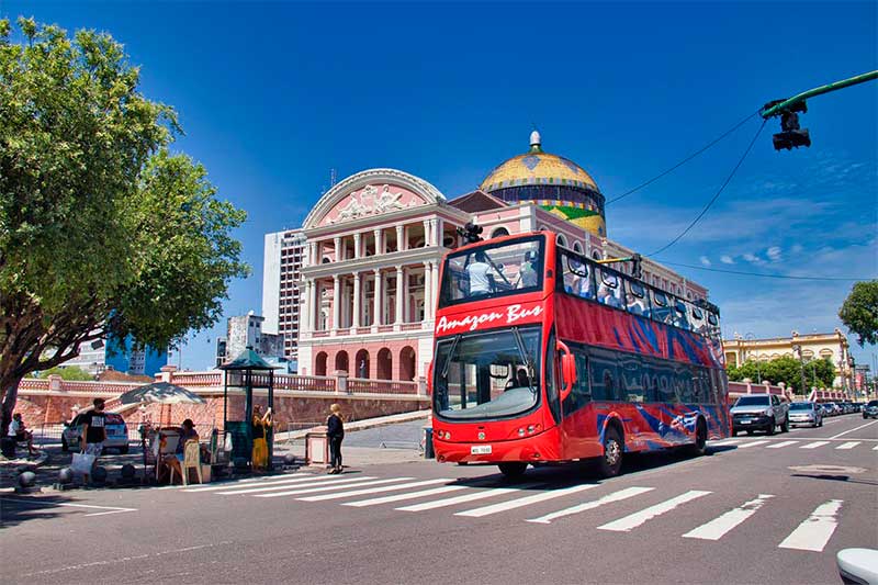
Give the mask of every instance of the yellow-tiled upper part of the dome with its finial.
M 530 136 L 530 151 L 500 164 L 482 181 L 480 189 L 489 193 L 527 184 L 578 187 L 600 192 L 595 180 L 577 164 L 543 153 L 540 135 L 536 131 Z

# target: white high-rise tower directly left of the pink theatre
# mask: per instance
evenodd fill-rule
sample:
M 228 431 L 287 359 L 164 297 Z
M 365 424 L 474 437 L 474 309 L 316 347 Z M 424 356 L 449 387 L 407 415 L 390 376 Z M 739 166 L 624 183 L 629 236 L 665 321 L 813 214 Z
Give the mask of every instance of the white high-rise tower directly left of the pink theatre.
M 305 235 L 302 229 L 266 234 L 262 330 L 283 336 L 283 356 L 290 360 L 299 355 L 300 280 L 304 257 Z

